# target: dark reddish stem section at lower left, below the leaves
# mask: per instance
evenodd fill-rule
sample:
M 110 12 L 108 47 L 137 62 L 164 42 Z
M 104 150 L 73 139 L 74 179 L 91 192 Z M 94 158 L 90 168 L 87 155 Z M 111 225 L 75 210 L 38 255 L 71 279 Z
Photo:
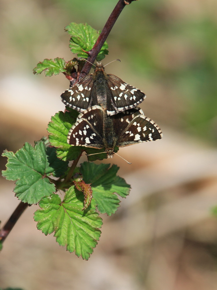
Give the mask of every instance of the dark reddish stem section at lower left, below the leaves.
M 25 211 L 25 209 L 29 206 L 27 202 L 20 202 L 12 215 L 10 216 L 9 220 L 6 222 L 6 224 L 3 226 L 3 228 L 0 230 L 0 242 L 3 243 L 4 240 L 7 238 L 10 231 L 13 229 L 14 225 L 18 221 L 21 214 Z

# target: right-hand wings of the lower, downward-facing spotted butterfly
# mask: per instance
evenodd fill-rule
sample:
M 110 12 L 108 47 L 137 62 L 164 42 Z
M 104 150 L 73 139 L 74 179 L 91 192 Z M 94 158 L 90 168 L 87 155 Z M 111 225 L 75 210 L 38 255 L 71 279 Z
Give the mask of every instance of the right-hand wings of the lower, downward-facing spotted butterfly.
M 119 131 L 116 132 L 118 136 L 116 145 L 118 147 L 156 141 L 162 138 L 159 126 L 152 119 L 141 115 L 139 110 L 130 115 L 125 112 L 121 114 L 122 117 L 114 119 L 113 122 L 114 128 Z

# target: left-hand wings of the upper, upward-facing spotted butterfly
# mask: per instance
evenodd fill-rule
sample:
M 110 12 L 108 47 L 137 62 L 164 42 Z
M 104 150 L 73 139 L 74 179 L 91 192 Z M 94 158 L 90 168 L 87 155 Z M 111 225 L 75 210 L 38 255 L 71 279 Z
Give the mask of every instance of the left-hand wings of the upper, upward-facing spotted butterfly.
M 76 85 L 65 90 L 60 96 L 62 102 L 74 110 L 83 112 L 93 104 L 97 104 L 94 93 L 93 75 L 86 75 Z

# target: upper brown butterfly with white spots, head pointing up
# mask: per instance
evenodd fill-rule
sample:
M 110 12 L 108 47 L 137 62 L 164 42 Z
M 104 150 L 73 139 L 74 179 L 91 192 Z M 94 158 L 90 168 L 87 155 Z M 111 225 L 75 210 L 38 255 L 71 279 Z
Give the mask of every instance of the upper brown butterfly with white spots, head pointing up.
M 145 99 L 141 90 L 126 84 L 116 75 L 106 74 L 104 70 L 102 62 L 97 62 L 95 73 L 86 75 L 62 93 L 62 102 L 79 112 L 100 105 L 111 116 L 135 108 Z

